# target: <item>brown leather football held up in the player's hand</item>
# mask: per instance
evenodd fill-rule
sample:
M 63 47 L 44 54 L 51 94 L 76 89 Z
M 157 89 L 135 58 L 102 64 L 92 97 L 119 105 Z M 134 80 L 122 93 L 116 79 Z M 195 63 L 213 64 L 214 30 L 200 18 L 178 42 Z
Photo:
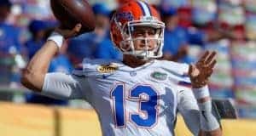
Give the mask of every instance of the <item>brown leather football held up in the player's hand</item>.
M 95 29 L 95 16 L 86 0 L 50 0 L 50 7 L 63 29 L 73 29 L 78 23 L 82 24 L 79 34 Z

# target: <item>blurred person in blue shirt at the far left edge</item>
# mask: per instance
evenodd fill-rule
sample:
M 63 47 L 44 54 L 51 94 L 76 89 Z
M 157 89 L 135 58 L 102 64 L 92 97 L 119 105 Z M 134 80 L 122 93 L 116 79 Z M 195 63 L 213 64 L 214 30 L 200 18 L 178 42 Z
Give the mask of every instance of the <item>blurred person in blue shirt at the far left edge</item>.
M 6 79 L 11 88 L 19 87 L 20 69 L 26 62 L 20 55 L 20 29 L 7 23 L 12 3 L 9 0 L 0 1 L 0 75 Z

